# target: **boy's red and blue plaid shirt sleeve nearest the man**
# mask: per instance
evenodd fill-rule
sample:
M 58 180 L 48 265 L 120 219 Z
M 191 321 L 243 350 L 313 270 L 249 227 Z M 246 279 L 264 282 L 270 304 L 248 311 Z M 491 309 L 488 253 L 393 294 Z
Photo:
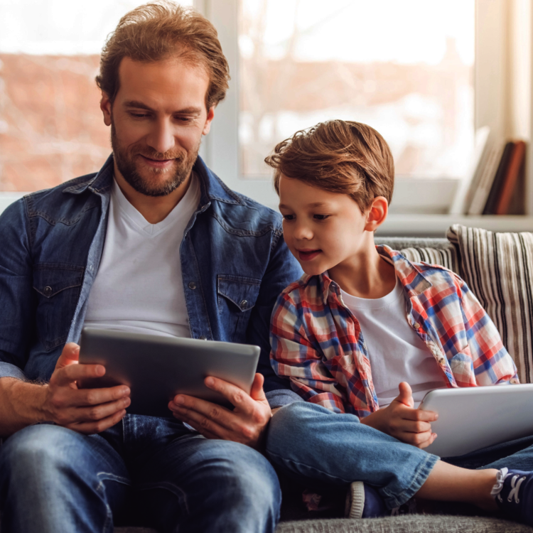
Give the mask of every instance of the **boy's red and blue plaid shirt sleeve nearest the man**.
M 290 379 L 294 391 L 306 402 L 344 413 L 338 382 L 325 367 L 321 352 L 309 339 L 303 318 L 305 308 L 298 289 L 284 291 L 279 296 L 271 319 L 271 365 L 277 375 Z

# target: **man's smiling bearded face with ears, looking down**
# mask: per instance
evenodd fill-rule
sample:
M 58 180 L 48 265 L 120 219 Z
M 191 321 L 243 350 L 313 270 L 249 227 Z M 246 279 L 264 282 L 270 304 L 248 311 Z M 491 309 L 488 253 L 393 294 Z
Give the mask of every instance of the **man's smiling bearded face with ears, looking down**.
M 113 104 L 102 96 L 114 161 L 124 180 L 147 196 L 168 195 L 190 176 L 213 109 L 205 109 L 209 78 L 181 60 L 141 63 L 124 58 Z

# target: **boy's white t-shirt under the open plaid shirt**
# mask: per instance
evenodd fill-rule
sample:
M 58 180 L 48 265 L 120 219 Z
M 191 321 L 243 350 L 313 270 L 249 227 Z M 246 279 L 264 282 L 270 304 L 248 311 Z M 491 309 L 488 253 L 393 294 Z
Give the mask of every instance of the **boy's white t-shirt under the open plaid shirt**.
M 398 396 L 402 381 L 413 389 L 414 407 L 426 392 L 445 387 L 434 355 L 407 322 L 404 289 L 398 278 L 392 292 L 383 298 L 340 292 L 361 326 L 379 407 L 387 407 Z

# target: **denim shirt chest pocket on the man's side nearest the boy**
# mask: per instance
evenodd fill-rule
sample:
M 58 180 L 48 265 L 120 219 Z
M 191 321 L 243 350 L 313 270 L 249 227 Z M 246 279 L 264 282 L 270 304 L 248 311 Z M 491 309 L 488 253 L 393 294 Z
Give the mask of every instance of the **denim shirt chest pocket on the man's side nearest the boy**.
M 218 274 L 218 312 L 225 322 L 228 340 L 246 342 L 246 329 L 252 308 L 255 306 L 261 280 L 233 274 Z

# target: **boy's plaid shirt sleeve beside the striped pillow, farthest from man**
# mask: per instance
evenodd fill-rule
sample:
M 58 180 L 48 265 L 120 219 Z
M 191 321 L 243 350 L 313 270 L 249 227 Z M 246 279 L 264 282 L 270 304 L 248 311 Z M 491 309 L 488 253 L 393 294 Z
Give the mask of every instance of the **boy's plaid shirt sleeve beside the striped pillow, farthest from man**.
M 465 325 L 466 340 L 470 350 L 470 360 L 465 365 L 473 365 L 475 384 L 495 385 L 518 383 L 517 367 L 502 343 L 500 333 L 485 309 L 465 282 L 460 281 L 461 307 Z M 470 367 L 471 368 L 471 367 Z M 468 372 L 471 375 L 471 370 Z M 461 383 L 461 372 L 453 369 L 459 387 L 468 386 Z

